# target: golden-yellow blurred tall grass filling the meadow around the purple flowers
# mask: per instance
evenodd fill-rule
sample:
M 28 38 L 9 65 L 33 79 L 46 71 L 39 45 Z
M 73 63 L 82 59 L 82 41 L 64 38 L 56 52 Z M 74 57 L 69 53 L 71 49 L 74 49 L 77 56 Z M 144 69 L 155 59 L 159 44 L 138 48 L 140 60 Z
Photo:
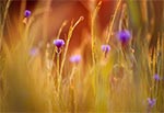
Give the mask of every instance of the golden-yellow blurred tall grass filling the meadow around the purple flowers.
M 101 50 L 104 42 L 98 38 L 96 25 L 101 2 L 95 7 L 91 14 L 92 53 L 86 58 L 92 61 L 85 61 L 82 55 L 79 64 L 69 61 L 68 52 L 73 31 L 83 22 L 83 16 L 71 22 L 60 55 L 52 41 L 49 44 L 44 42 L 47 45 L 44 50 L 37 46 L 37 52 L 31 54 L 35 38 L 30 37 L 30 30 L 35 19 L 31 16 L 25 27 L 22 20 L 19 21 L 21 25 L 16 29 L 21 27 L 21 35 L 13 37 L 20 36 L 20 39 L 10 46 L 3 35 L 3 25 L 10 24 L 5 19 L 9 4 L 10 1 L 2 5 L 5 10 L 0 11 L 4 13 L 0 23 L 1 112 L 164 112 L 164 32 L 159 31 L 156 37 L 150 37 L 149 27 L 141 26 L 142 22 L 151 24 L 149 18 L 142 18 L 134 2 L 127 1 L 122 7 L 124 2 L 117 1 L 107 35 L 103 38 L 112 47 L 106 55 Z M 147 12 L 149 4 L 143 4 Z M 54 39 L 60 38 L 67 23 L 61 24 Z M 113 35 L 117 32 L 113 30 L 115 25 L 120 26 L 118 31 L 130 31 L 132 38 L 126 46 Z M 152 38 L 157 38 L 154 48 L 150 47 Z M 153 78 L 155 74 L 160 81 Z M 156 99 L 153 108 L 149 106 L 148 98 Z

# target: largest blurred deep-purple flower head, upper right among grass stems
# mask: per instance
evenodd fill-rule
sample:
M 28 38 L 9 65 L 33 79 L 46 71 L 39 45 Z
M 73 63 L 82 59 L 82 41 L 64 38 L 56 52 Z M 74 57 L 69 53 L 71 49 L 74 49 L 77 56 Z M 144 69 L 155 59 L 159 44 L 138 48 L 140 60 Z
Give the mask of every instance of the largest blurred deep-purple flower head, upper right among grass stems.
M 125 45 L 129 42 L 131 34 L 128 30 L 122 30 L 117 33 L 117 37 L 118 37 L 118 41 Z

